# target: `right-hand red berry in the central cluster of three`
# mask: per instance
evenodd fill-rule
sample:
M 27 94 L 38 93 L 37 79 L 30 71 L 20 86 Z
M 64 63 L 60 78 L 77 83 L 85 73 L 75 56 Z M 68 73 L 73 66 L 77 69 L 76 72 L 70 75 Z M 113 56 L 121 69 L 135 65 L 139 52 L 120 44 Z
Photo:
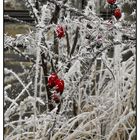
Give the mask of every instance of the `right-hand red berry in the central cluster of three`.
M 60 94 L 62 94 L 62 92 L 64 90 L 64 81 L 61 79 L 57 79 L 55 81 L 55 89 L 57 92 L 60 92 Z

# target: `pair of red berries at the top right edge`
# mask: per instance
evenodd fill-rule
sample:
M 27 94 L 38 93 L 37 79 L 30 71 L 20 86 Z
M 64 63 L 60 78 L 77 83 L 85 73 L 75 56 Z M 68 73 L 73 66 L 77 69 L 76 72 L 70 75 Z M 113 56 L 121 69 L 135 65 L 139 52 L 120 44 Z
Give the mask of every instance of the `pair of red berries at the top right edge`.
M 121 10 L 115 4 L 116 0 L 107 0 L 107 2 L 110 4 L 111 11 L 112 11 L 113 15 L 115 16 L 115 18 L 117 20 L 119 20 L 121 18 L 122 14 L 121 14 Z

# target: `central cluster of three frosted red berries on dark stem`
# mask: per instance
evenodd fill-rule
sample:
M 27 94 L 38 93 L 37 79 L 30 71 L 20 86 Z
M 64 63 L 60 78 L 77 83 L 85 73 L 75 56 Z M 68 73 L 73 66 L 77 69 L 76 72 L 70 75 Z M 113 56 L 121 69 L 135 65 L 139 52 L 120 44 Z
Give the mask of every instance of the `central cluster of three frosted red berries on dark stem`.
M 55 90 L 52 94 L 52 99 L 53 101 L 55 101 L 55 103 L 59 103 L 60 96 L 64 91 L 64 81 L 59 79 L 56 73 L 52 73 L 48 77 L 48 87 Z

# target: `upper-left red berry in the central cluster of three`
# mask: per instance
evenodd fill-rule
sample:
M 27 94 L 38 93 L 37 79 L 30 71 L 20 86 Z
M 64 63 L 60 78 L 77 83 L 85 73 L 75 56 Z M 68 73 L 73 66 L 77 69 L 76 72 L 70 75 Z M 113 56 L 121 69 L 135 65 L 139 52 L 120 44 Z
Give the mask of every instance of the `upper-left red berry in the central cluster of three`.
M 56 73 L 52 73 L 48 78 L 48 86 L 50 88 L 55 86 L 55 81 L 58 79 L 58 76 Z

